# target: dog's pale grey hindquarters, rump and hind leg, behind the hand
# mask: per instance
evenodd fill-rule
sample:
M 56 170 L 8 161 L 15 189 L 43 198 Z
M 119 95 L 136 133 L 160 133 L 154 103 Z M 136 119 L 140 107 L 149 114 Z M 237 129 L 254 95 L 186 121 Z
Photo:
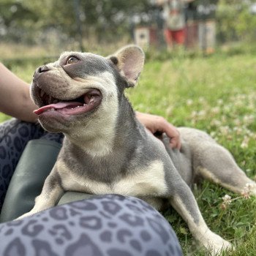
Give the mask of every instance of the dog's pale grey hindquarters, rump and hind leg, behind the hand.
M 226 148 L 206 132 L 185 127 L 178 130 L 189 145 L 195 177 L 201 176 L 237 193 L 243 192 L 246 184 L 250 184 L 252 195 L 256 195 L 255 181 L 238 167 Z

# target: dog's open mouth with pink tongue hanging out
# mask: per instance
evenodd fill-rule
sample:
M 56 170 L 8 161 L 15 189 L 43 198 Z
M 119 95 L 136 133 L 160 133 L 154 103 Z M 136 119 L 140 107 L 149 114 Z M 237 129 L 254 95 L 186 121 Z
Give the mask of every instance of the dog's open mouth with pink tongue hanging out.
M 45 91 L 39 89 L 39 97 L 42 100 L 42 107 L 34 110 L 34 113 L 40 115 L 48 111 L 57 111 L 66 115 L 77 115 L 88 113 L 97 108 L 102 101 L 102 94 L 97 89 L 91 89 L 81 97 L 72 100 L 61 100 L 51 97 Z

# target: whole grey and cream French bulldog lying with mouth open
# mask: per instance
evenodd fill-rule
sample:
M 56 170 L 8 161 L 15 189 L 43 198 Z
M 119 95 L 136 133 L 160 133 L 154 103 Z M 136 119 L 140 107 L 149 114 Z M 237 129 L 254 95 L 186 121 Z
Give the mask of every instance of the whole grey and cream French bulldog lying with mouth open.
M 205 132 L 179 128 L 181 151 L 151 135 L 135 118 L 124 89 L 143 68 L 140 48 L 116 56 L 64 53 L 37 69 L 31 95 L 42 127 L 63 132 L 64 145 L 30 215 L 56 205 L 64 191 L 141 197 L 157 208 L 168 201 L 203 246 L 230 246 L 208 229 L 189 186 L 197 176 L 242 192 L 247 178 L 230 153 Z M 74 101 L 75 99 L 75 101 Z

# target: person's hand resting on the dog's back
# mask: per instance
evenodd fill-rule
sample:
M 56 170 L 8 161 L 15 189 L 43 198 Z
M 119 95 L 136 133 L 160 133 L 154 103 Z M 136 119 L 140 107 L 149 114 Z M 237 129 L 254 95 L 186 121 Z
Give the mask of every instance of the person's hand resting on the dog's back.
M 168 123 L 162 116 L 154 116 L 146 113 L 136 112 L 136 117 L 150 132 L 165 132 L 170 138 L 170 147 L 181 149 L 181 138 L 178 129 Z

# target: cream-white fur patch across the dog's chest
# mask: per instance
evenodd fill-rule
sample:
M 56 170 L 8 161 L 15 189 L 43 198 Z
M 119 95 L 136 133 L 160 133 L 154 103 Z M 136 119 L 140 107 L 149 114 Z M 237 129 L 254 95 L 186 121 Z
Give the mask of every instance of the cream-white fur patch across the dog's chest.
M 161 196 L 167 193 L 163 163 L 154 160 L 146 167 L 132 170 L 124 178 L 113 183 L 96 181 L 86 176 L 78 175 L 59 163 L 61 185 L 67 191 L 87 192 L 90 194 L 120 194 L 132 196 Z

